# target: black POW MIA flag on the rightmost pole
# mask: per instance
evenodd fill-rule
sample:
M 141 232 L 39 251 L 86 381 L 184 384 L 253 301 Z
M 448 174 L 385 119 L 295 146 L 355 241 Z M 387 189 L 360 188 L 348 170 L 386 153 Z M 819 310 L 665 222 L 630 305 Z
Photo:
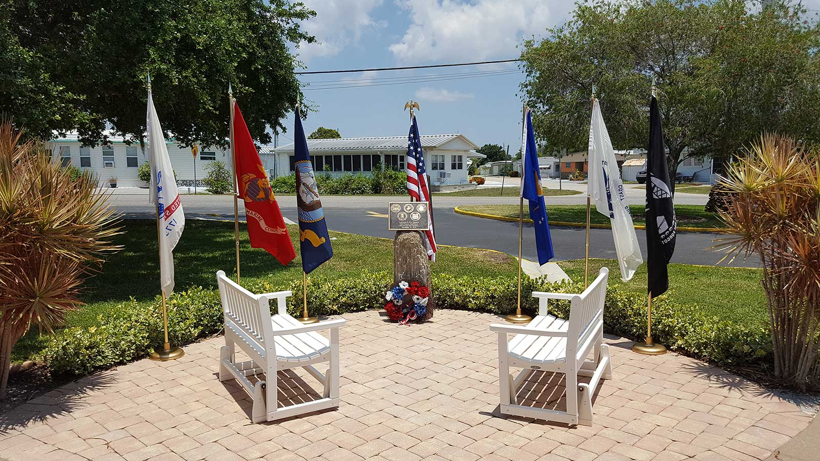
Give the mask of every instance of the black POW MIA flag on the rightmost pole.
M 653 298 L 669 288 L 667 264 L 675 252 L 676 228 L 661 113 L 658 100 L 653 96 L 649 107 L 649 149 L 646 153 L 647 288 Z

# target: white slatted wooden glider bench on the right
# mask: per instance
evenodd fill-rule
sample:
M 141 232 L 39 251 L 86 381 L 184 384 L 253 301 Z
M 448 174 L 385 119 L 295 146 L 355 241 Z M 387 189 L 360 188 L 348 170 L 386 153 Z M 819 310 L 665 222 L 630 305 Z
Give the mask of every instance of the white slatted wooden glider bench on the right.
M 592 393 L 601 378 L 612 379 L 608 345 L 604 344 L 606 267 L 581 294 L 534 291 L 539 315 L 526 326 L 490 326 L 499 334 L 499 386 L 501 413 L 567 424 L 592 425 Z M 549 315 L 549 299 L 571 301 L 569 320 Z M 513 334 L 512 340 L 507 335 Z M 593 354 L 590 361 L 587 357 Z M 514 379 L 509 368 L 523 368 Z M 517 404 L 517 388 L 536 370 L 564 373 L 567 380 L 567 411 L 539 409 Z M 589 384 L 578 377 L 591 377 Z

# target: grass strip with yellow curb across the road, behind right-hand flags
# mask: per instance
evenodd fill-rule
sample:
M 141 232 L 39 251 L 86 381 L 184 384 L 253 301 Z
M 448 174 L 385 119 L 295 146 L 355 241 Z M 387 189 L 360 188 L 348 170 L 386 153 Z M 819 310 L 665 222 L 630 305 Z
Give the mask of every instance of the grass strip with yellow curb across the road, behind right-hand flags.
M 458 208 L 467 212 L 480 212 L 518 219 L 518 205 L 467 205 Z M 630 205 L 629 210 L 635 224 L 645 224 L 644 205 Z M 675 212 L 677 225 L 681 227 L 723 227 L 717 215 L 706 212 L 703 205 L 675 205 Z M 547 205 L 547 216 L 549 221 L 586 222 L 586 205 Z M 529 215 L 525 217 L 529 217 Z M 590 212 L 590 222 L 609 224 L 609 218 L 593 208 Z

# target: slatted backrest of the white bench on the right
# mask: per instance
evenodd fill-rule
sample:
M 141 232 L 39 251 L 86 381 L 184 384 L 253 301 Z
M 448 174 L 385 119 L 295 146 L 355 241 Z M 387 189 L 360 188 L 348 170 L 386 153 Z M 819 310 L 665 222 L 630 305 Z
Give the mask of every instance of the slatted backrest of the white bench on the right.
M 576 360 L 585 358 L 584 345 L 591 344 L 590 336 L 594 335 L 604 322 L 604 301 L 607 297 L 607 280 L 609 270 L 601 268 L 599 276 L 590 283 L 583 293 L 572 298 L 569 314 L 569 332 L 567 337 L 567 359 L 576 356 Z M 571 355 L 572 354 L 572 355 Z M 581 358 L 578 358 L 580 356 Z

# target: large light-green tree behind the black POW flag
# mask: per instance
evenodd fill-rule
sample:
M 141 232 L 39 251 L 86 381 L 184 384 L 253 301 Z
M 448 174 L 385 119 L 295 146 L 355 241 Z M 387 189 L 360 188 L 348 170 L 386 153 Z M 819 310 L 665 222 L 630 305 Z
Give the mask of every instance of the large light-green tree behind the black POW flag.
M 549 39 L 525 43 L 535 133 L 553 150 L 585 149 L 595 84 L 613 144 L 645 146 L 655 77 L 672 174 L 688 157 L 740 153 L 763 130 L 820 139 L 818 24 L 799 6 L 745 3 L 578 5 Z

